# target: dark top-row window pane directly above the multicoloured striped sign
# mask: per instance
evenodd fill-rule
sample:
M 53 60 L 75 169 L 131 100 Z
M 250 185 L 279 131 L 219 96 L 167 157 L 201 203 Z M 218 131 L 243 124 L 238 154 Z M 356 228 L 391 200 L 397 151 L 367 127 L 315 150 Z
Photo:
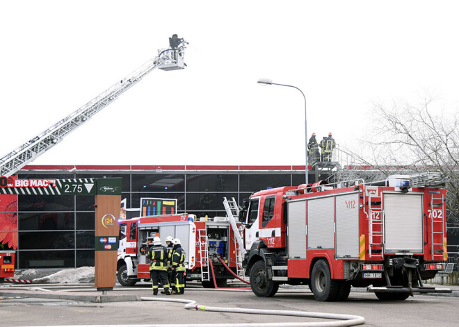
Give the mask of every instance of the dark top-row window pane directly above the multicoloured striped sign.
M 132 174 L 132 192 L 184 192 L 184 174 Z

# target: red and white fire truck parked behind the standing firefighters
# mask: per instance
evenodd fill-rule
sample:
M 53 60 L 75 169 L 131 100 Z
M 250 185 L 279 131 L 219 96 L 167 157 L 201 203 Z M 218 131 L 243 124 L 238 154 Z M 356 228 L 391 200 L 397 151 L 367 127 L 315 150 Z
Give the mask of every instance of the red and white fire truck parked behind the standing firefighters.
M 121 285 L 131 286 L 140 279 L 150 279 L 147 251 L 155 236 L 161 237 L 163 245 L 168 236 L 181 240 L 186 253 L 186 280 L 200 280 L 204 287 L 214 287 L 212 276 L 215 276 L 217 287 L 224 287 L 227 279 L 234 278 L 233 274 L 242 274 L 242 246 L 236 242 L 230 217 L 197 220 L 195 215 L 188 214 L 160 215 L 120 221 L 118 281 Z

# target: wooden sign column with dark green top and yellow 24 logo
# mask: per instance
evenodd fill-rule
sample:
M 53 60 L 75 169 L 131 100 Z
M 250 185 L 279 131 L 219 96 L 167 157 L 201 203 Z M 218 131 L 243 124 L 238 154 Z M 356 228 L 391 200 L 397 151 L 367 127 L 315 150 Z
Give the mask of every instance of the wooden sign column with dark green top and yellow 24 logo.
M 96 178 L 95 185 L 94 286 L 105 292 L 116 283 L 122 178 Z

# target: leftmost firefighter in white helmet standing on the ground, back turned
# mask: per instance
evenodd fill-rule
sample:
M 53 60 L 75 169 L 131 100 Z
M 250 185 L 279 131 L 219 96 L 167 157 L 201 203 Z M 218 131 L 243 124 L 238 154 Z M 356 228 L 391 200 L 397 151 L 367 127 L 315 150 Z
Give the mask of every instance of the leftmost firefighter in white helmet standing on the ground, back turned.
M 153 295 L 158 295 L 158 285 L 161 279 L 164 292 L 170 295 L 168 282 L 168 251 L 166 246 L 161 244 L 159 237 L 154 237 L 153 246 L 148 250 L 148 258 L 150 259 L 150 277 L 152 278 Z

